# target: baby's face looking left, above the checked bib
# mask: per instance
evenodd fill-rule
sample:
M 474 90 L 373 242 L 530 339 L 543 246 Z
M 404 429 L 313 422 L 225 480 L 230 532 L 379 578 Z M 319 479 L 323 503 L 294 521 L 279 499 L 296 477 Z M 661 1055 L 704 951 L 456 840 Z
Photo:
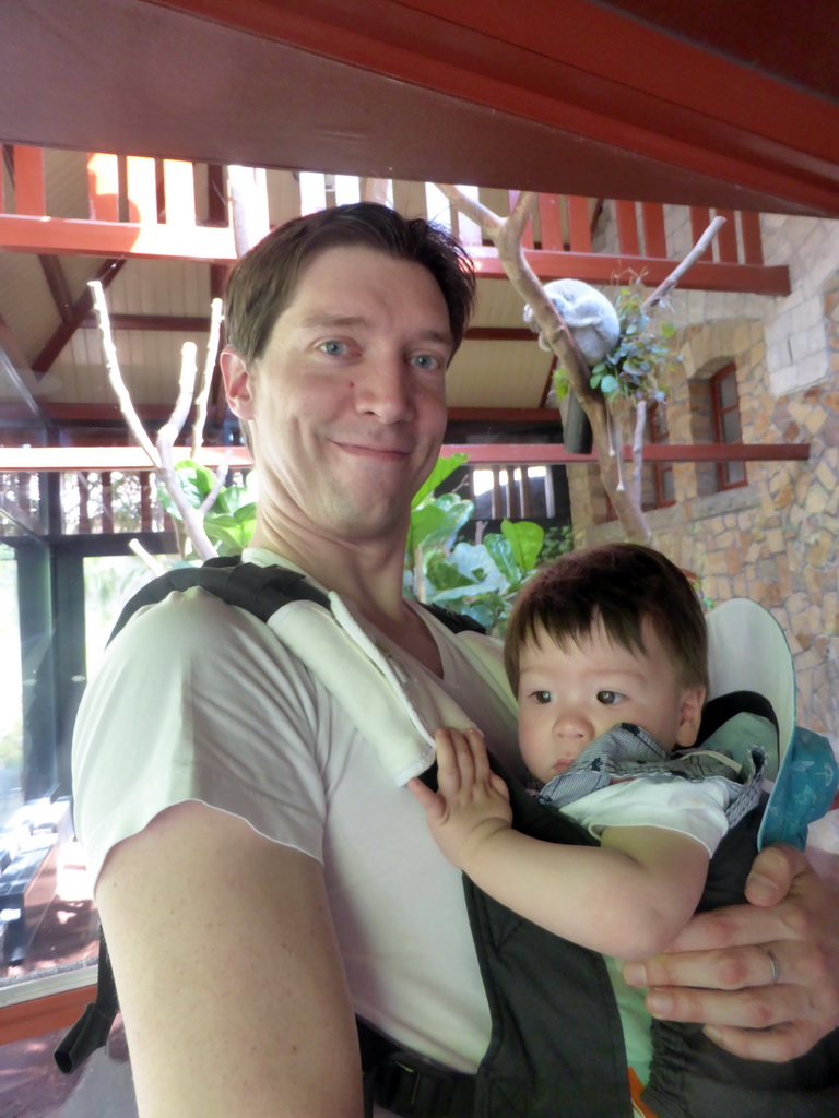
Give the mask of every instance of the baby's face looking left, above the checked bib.
M 619 722 L 640 726 L 668 751 L 692 746 L 705 691 L 686 688 L 656 631 L 641 626 L 644 652 L 612 643 L 602 624 L 579 645 L 546 633 L 521 648 L 519 748 L 547 784 L 585 747 Z

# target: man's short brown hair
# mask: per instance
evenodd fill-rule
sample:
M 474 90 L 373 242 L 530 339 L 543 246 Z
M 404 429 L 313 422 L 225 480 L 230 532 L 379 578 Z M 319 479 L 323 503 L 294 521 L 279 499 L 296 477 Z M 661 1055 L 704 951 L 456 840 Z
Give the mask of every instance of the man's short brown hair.
M 427 268 L 445 300 L 456 350 L 475 299 L 474 267 L 464 249 L 431 221 L 405 218 L 378 202 L 356 202 L 279 226 L 236 263 L 225 293 L 225 331 L 227 344 L 246 364 L 262 357 L 274 323 L 294 297 L 303 264 L 343 245 Z

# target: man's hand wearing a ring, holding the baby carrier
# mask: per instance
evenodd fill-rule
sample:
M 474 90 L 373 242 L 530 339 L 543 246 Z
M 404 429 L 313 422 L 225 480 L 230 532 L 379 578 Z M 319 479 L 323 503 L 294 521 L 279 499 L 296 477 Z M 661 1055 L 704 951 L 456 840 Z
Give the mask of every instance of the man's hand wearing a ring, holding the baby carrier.
M 704 1022 L 753 1060 L 802 1055 L 839 1024 L 839 897 L 792 846 L 755 859 L 750 904 L 694 917 L 666 955 L 630 963 L 656 1017 Z

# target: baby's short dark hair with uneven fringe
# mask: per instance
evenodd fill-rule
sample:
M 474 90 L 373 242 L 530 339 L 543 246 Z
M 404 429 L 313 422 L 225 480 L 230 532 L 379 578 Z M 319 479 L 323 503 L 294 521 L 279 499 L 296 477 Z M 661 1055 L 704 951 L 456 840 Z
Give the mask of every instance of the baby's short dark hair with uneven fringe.
M 543 633 L 558 645 L 579 641 L 598 620 L 615 644 L 644 652 L 648 618 L 684 686 L 708 686 L 708 632 L 699 599 L 679 568 L 639 543 L 601 543 L 543 567 L 516 600 L 505 666 L 518 691 L 522 645 Z

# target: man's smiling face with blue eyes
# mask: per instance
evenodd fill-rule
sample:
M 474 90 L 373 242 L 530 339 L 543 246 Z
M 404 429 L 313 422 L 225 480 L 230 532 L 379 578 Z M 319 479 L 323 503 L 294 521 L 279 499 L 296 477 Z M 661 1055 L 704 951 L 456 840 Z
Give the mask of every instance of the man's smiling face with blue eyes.
M 303 266 L 262 358 L 226 375 L 234 410 L 255 420 L 261 510 L 281 537 L 289 522 L 347 540 L 404 534 L 445 429 L 452 348 L 421 265 L 342 246 Z

